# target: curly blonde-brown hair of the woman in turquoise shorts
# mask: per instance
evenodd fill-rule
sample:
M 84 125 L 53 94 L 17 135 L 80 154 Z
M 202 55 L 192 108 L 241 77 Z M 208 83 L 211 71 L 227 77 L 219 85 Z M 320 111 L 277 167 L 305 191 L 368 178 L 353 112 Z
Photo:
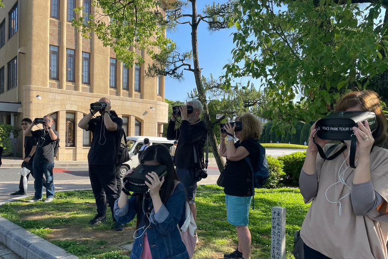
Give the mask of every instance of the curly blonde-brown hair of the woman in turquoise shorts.
M 263 125 L 261 121 L 251 113 L 245 113 L 236 118 L 243 122 L 243 130 L 240 134 L 240 141 L 243 142 L 246 139 L 258 139 L 263 131 Z

